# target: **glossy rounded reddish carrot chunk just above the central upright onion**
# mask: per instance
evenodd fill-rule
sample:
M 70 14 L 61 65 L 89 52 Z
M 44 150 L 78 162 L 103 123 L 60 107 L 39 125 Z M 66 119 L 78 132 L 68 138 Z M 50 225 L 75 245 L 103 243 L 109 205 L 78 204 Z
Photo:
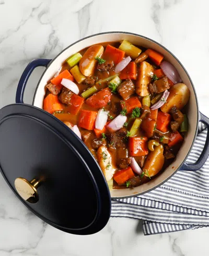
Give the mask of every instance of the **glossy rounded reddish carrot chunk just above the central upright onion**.
M 111 91 L 109 88 L 105 88 L 100 92 L 95 93 L 91 97 L 87 98 L 86 104 L 95 108 L 105 107 L 110 101 L 110 98 Z

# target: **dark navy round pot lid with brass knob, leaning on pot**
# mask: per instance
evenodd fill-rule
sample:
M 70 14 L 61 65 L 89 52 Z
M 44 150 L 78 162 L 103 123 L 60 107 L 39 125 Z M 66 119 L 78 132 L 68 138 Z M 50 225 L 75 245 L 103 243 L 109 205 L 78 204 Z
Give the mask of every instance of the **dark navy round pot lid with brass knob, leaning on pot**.
M 68 233 L 89 235 L 110 217 L 110 193 L 83 141 L 44 110 L 26 104 L 0 110 L 0 170 L 34 214 Z

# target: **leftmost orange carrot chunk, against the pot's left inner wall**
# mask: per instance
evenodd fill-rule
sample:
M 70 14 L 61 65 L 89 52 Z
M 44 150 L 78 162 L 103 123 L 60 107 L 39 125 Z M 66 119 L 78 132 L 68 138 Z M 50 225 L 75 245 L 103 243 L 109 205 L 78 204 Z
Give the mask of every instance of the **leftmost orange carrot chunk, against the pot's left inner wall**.
M 48 94 L 43 100 L 43 109 L 53 114 L 56 111 L 62 111 L 63 105 L 60 103 L 57 95 Z

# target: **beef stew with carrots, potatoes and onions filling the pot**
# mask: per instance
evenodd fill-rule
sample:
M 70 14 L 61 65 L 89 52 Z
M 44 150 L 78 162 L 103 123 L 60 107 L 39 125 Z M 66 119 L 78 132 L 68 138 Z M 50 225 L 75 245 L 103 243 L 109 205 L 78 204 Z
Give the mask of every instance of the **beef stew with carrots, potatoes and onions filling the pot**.
M 161 53 L 126 40 L 75 53 L 45 88 L 43 109 L 84 141 L 110 190 L 164 171 L 188 131 L 190 91 L 178 71 Z

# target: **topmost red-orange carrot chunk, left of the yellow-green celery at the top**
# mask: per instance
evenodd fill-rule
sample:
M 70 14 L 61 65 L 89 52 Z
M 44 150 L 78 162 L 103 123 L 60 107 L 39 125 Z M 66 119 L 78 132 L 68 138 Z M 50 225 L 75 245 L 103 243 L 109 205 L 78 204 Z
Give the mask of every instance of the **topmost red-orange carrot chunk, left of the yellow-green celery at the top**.
M 122 61 L 124 55 L 125 51 L 122 51 L 108 44 L 102 58 L 105 60 L 112 60 L 114 64 L 117 65 L 120 61 Z

